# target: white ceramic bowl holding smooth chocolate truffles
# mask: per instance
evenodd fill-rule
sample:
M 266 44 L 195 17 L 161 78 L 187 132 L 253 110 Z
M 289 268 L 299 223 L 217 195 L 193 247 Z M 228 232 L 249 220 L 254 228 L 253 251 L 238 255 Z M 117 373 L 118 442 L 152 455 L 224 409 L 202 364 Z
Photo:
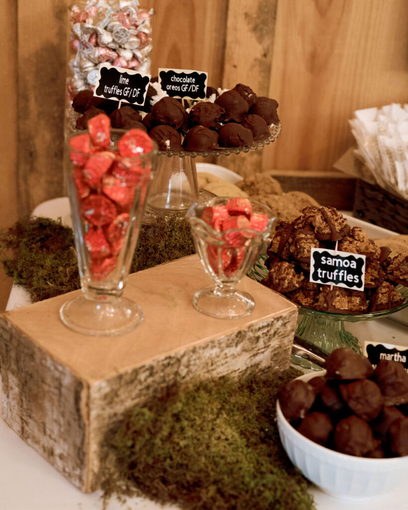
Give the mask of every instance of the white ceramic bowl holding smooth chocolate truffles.
M 298 377 L 305 381 L 326 372 Z M 408 474 L 408 456 L 354 457 L 320 446 L 301 435 L 276 404 L 279 437 L 292 463 L 322 491 L 336 498 L 359 500 L 391 492 Z

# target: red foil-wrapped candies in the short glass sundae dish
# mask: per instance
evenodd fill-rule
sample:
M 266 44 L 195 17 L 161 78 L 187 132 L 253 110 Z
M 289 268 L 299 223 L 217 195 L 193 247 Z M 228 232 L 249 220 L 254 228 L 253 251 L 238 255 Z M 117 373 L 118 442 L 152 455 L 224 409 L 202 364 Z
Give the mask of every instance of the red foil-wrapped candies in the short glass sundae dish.
M 231 198 L 225 205 L 206 207 L 201 220 L 213 231 L 206 235 L 209 266 L 215 274 L 222 272 L 226 277 L 236 273 L 245 260 L 248 246 L 268 224 L 268 217 L 253 212 L 250 200 L 241 197 Z

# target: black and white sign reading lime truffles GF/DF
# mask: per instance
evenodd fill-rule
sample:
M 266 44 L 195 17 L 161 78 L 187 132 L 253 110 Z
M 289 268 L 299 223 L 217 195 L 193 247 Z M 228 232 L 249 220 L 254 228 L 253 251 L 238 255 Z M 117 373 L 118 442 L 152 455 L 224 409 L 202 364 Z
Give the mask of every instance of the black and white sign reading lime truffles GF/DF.
M 101 64 L 93 95 L 132 105 L 144 105 L 149 82 L 149 74 Z

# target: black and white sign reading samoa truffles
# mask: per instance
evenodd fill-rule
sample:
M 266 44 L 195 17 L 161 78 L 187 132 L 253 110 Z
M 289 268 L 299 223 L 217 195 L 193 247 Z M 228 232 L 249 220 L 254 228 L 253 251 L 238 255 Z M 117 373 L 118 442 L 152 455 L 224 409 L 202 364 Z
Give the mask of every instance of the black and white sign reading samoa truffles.
M 310 281 L 336 285 L 352 290 L 364 290 L 366 256 L 346 251 L 312 248 Z

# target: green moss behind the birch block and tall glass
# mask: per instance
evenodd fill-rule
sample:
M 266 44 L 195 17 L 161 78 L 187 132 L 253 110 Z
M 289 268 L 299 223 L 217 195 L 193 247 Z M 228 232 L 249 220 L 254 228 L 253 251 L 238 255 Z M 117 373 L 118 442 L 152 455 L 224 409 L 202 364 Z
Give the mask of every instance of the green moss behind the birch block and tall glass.
M 188 222 L 180 216 L 142 224 L 131 271 L 195 253 Z M 72 229 L 61 220 L 27 218 L 0 231 L 0 261 L 33 302 L 80 288 Z

